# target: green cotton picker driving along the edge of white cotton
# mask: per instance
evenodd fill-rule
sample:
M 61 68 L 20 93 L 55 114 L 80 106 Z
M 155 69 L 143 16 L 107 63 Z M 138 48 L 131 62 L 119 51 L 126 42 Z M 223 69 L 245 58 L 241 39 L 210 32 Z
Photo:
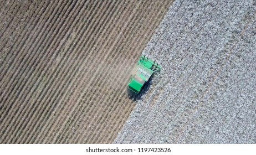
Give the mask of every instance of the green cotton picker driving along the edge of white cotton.
M 160 65 L 155 63 L 155 61 L 150 60 L 146 56 L 141 56 L 135 68 L 135 72 L 128 84 L 129 89 L 134 91 L 136 94 L 139 94 L 153 73 L 159 71 L 160 69 Z

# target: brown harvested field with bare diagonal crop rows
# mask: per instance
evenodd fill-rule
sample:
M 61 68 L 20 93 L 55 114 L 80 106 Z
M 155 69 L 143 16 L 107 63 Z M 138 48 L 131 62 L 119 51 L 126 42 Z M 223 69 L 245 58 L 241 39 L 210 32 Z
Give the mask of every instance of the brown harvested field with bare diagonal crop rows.
M 0 143 L 111 143 L 169 1 L 2 1 Z

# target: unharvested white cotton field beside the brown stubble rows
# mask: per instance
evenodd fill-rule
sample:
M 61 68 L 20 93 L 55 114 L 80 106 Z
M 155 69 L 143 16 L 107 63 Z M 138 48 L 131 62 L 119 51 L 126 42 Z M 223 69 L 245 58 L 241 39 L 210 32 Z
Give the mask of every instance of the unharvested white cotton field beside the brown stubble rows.
M 115 143 L 256 143 L 255 1 L 176 0 L 143 53 L 162 70 Z

